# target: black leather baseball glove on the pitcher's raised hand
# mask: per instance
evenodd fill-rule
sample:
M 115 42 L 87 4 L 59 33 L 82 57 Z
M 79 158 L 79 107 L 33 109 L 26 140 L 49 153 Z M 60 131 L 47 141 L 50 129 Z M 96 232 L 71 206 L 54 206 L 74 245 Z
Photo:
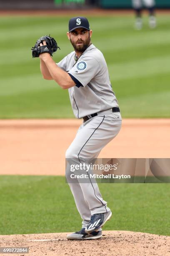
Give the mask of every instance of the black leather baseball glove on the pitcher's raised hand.
M 43 41 L 46 42 L 47 45 L 40 46 L 40 43 L 43 44 Z M 57 46 L 57 42 L 53 37 L 49 36 L 42 36 L 37 41 L 34 47 L 31 48 L 32 50 L 32 58 L 39 57 L 42 53 L 49 53 L 51 56 L 52 54 L 57 51 L 57 49 L 60 49 L 59 46 Z

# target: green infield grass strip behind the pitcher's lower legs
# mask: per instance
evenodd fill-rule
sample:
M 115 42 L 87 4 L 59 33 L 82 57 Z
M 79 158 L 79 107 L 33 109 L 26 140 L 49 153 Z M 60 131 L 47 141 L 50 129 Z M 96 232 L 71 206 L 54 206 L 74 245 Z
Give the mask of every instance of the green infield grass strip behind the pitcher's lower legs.
M 99 184 L 112 209 L 103 230 L 170 236 L 169 184 Z M 65 177 L 0 176 L 0 234 L 72 232 L 81 228 Z

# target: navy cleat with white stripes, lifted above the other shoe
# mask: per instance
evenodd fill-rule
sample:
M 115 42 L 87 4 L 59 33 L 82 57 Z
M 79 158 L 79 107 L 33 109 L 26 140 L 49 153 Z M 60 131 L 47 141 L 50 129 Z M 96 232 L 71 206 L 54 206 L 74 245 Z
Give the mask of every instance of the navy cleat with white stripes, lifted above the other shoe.
M 87 225 L 87 228 L 85 228 L 85 232 L 91 233 L 93 231 L 99 230 L 107 220 L 109 220 L 112 216 L 112 212 L 106 212 L 106 213 L 97 213 L 91 215 L 90 223 Z

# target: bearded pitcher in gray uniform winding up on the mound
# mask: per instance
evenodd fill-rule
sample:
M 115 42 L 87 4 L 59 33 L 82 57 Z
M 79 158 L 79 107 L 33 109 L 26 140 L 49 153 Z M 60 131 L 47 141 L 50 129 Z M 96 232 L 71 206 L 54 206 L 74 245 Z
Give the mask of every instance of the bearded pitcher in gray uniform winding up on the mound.
M 87 182 L 79 176 L 72 182 L 70 166 L 96 159 L 102 148 L 119 133 L 122 118 L 115 93 L 112 90 L 107 64 L 102 52 L 91 42 L 92 30 L 85 17 L 71 18 L 67 38 L 74 51 L 57 64 L 52 54 L 57 43 L 50 36 L 38 39 L 32 56 L 40 58 L 40 70 L 47 80 L 55 80 L 62 89 L 68 89 L 72 110 L 82 124 L 66 151 L 66 178 L 82 218 L 80 231 L 67 236 L 70 240 L 97 239 L 102 226 L 112 212 L 102 198 L 98 185 L 87 175 Z

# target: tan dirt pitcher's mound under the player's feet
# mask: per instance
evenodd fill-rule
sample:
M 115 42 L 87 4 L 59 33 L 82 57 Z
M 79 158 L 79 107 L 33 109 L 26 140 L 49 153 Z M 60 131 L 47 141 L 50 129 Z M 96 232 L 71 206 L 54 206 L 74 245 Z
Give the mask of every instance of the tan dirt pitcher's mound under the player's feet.
M 88 256 L 169 256 L 170 236 L 152 235 L 131 231 L 103 231 L 98 240 L 68 241 L 68 233 L 0 236 L 0 247 L 29 247 L 29 254 L 88 255 Z M 2 254 L 7 255 L 7 254 Z

